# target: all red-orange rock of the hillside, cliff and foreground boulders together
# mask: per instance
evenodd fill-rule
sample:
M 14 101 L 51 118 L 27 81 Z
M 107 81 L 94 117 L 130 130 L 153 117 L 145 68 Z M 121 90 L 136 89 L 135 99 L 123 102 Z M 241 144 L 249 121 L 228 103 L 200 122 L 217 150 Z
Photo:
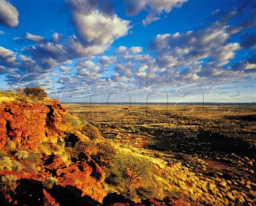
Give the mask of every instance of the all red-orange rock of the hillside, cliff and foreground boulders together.
M 116 193 L 107 195 L 101 184 L 105 181 L 105 171 L 86 151 L 81 151 L 70 164 L 57 155 L 58 144 L 54 146 L 52 141 L 58 142 L 72 126 L 65 123 L 66 114 L 67 111 L 60 102 L 52 99 L 46 99 L 44 104 L 0 105 L 0 150 L 5 151 L 10 156 L 10 161 L 15 162 L 20 150 L 17 152 L 6 149 L 7 143 L 12 142 L 17 148 L 34 151 L 39 157 L 34 170 L 23 167 L 20 170 L 0 170 L 1 178 L 15 177 L 18 183 L 12 192 L 10 181 L 5 183 L 7 186 L 0 183 L 0 205 L 190 205 L 186 201 L 171 198 L 165 198 L 164 201 L 149 199 L 136 204 Z M 80 139 L 88 140 L 79 131 L 69 134 L 69 139 L 75 142 Z M 38 151 L 38 144 L 41 142 L 46 142 L 55 152 L 50 155 Z M 0 157 L 0 163 L 6 158 Z M 25 157 L 18 159 L 23 163 L 28 161 Z

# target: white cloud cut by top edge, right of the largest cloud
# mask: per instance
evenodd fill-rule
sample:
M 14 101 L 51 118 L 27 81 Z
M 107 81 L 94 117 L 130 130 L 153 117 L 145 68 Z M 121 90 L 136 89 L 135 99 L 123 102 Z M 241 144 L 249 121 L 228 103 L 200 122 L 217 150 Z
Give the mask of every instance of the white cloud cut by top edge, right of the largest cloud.
M 159 20 L 160 15 L 170 13 L 174 7 L 181 7 L 187 0 L 125 0 L 126 14 L 134 16 L 142 10 L 146 10 L 148 15 L 143 20 L 143 25 L 150 24 L 153 21 Z

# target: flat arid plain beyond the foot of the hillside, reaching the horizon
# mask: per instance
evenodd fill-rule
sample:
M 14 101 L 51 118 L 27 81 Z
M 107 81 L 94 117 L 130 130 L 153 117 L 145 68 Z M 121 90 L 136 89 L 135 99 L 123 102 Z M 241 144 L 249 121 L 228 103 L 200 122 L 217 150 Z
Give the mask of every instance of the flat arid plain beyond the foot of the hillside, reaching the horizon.
M 255 105 L 65 107 L 118 147 L 165 164 L 180 162 L 204 181 L 219 183 L 221 197 L 255 205 Z

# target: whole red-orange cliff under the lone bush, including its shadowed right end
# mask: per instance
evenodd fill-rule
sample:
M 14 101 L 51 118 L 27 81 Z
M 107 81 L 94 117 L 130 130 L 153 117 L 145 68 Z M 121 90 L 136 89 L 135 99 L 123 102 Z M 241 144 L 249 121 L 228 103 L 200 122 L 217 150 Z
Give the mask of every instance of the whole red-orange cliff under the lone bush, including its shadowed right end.
M 35 151 L 39 141 L 50 138 L 45 130 L 46 123 L 50 131 L 60 129 L 66 109 L 58 100 L 47 99 L 45 102 L 0 105 L 0 149 L 3 149 L 7 140 L 11 140 Z

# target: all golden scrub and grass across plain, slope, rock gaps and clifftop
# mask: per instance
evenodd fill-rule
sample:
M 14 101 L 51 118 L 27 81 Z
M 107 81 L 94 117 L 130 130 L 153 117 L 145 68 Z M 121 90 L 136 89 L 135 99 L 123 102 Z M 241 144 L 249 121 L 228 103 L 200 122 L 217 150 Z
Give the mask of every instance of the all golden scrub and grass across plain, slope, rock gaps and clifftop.
M 33 101 L 20 92 L 1 95 Z M 69 166 L 86 161 L 84 152 L 106 172 L 107 193 L 135 202 L 172 196 L 193 205 L 256 204 L 255 106 L 225 107 L 230 113 L 213 113 L 210 106 L 193 112 L 183 106 L 66 107 L 63 135 L 53 133 L 51 140 L 38 142 L 36 151 L 7 141 L 0 170 L 37 174 L 46 155 L 58 155 Z M 47 176 L 42 186 L 51 190 L 56 182 L 57 176 Z M 15 187 L 15 176 L 1 176 L 2 193 L 14 195 Z

